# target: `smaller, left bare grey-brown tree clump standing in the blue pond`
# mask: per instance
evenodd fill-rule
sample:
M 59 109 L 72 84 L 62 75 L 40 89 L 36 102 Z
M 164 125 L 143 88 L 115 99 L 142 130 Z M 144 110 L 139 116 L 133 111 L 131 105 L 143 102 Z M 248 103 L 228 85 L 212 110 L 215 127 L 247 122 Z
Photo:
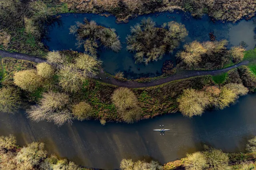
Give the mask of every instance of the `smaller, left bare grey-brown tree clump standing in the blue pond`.
M 121 49 L 121 43 L 118 39 L 115 29 L 98 26 L 95 21 L 84 19 L 84 23 L 77 22 L 77 25 L 71 26 L 70 34 L 77 36 L 77 45 L 84 45 L 85 51 L 91 55 L 96 54 L 96 48 L 103 45 L 117 52 Z

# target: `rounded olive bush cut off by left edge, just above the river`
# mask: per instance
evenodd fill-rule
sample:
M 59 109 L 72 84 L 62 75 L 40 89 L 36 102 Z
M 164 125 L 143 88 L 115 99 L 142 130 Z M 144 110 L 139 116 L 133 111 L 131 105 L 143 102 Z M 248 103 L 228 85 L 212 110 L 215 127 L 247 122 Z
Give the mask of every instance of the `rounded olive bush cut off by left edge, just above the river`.
M 14 87 L 0 89 L 0 112 L 15 113 L 20 108 L 20 95 Z

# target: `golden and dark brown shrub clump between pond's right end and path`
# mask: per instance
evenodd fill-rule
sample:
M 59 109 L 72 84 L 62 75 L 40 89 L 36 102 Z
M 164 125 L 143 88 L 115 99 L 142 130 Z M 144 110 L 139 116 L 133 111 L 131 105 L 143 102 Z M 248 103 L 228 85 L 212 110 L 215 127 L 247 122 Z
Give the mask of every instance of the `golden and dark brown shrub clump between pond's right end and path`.
M 232 63 L 232 56 L 234 56 L 234 52 L 230 53 L 226 49 L 227 44 L 227 40 L 222 40 L 220 42 L 216 41 L 203 43 L 194 41 L 185 44 L 184 51 L 180 51 L 179 53 L 177 53 L 177 57 L 181 59 L 178 67 L 187 70 L 221 69 L 225 65 Z

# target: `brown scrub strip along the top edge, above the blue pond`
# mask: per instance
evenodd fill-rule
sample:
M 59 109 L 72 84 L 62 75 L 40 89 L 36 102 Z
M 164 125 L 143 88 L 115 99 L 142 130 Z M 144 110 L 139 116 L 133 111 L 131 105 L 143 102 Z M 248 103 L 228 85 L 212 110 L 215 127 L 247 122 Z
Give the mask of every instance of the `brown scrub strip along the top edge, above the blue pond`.
M 254 0 L 60 0 L 67 3 L 70 10 L 76 12 L 109 12 L 119 22 L 127 22 L 129 18 L 152 12 L 173 11 L 175 9 L 191 12 L 195 17 L 208 14 L 217 20 L 235 22 L 242 17 L 250 18 L 256 12 Z

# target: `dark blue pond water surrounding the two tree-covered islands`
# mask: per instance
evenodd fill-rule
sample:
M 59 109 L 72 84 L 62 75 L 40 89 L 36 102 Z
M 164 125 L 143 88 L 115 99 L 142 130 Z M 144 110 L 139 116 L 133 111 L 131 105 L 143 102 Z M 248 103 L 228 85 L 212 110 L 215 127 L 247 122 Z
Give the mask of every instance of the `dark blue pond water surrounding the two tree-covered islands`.
M 77 40 L 74 35 L 69 34 L 69 28 L 75 25 L 77 21 L 83 22 L 85 17 L 89 20 L 95 20 L 98 25 L 114 28 L 122 43 L 122 49 L 118 53 L 104 49 L 103 47 L 99 49 L 98 54 L 99 58 L 103 61 L 103 69 L 111 74 L 124 71 L 125 76 L 131 79 L 161 75 L 163 62 L 166 60 L 175 60 L 175 53 L 177 52 L 177 50 L 175 50 L 173 54 L 168 53 L 162 60 L 153 61 L 147 66 L 144 64 L 135 64 L 133 53 L 126 50 L 125 38 L 130 34 L 131 26 L 140 22 L 143 18 L 151 17 L 158 26 L 170 21 L 184 24 L 189 32 L 184 43 L 194 40 L 200 42 L 209 41 L 209 33 L 214 32 L 216 40 L 227 39 L 229 41 L 229 47 L 239 45 L 241 41 L 248 44 L 247 49 L 253 49 L 256 45 L 256 39 L 254 38 L 256 24 L 254 24 L 253 20 L 242 20 L 237 24 L 222 23 L 220 21 L 212 22 L 211 18 L 208 16 L 203 16 L 202 19 L 196 19 L 190 14 L 180 11 L 143 15 L 131 19 L 127 24 L 117 24 L 114 16 L 105 17 L 97 14 L 62 14 L 61 16 L 60 24 L 52 24 L 52 26 L 50 26 L 48 40 L 43 40 L 44 44 L 49 47 L 49 50 L 72 49 L 74 51 L 84 52 L 83 47 L 76 47 L 75 43 Z M 254 17 L 254 19 L 256 19 L 256 17 Z M 182 48 L 184 43 L 182 43 L 179 48 Z

